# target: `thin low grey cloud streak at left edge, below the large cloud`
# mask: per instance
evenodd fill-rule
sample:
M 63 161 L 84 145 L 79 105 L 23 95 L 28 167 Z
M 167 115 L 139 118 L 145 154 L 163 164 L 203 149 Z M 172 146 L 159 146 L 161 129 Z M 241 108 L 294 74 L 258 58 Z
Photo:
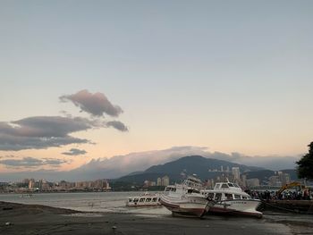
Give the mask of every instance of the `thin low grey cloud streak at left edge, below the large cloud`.
M 38 159 L 34 157 L 23 157 L 22 159 L 4 159 L 0 160 L 0 164 L 4 164 L 7 168 L 35 168 L 38 166 L 59 167 L 60 164 L 67 163 L 63 159 L 44 158 Z

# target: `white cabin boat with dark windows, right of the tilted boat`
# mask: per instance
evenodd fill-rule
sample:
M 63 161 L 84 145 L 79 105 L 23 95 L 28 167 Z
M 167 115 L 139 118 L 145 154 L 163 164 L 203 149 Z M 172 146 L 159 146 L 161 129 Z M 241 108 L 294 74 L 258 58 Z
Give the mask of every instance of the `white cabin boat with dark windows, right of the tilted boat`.
M 261 204 L 258 199 L 251 198 L 241 187 L 232 182 L 218 182 L 214 189 L 204 189 L 202 193 L 211 197 L 216 204 L 209 209 L 209 213 L 219 214 L 242 214 L 262 217 L 257 211 Z

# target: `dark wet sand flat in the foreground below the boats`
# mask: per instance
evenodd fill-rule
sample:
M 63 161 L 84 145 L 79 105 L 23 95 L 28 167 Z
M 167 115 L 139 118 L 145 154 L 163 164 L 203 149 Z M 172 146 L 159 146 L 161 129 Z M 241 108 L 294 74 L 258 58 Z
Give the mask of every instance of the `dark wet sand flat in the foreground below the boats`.
M 0 234 L 5 235 L 313 234 L 311 222 L 273 218 L 207 215 L 199 219 L 156 214 L 80 213 L 50 206 L 0 202 Z

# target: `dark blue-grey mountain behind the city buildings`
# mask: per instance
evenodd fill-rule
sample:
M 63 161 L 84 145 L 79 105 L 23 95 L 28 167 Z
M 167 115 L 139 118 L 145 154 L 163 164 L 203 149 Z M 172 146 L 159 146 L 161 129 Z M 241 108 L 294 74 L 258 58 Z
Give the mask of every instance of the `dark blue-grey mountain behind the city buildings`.
M 263 168 L 234 164 L 231 162 L 206 158 L 200 155 L 190 155 L 182 157 L 173 162 L 158 164 L 149 167 L 144 172 L 131 173 L 118 180 L 142 183 L 144 180 L 157 180 L 165 175 L 170 177 L 172 182 L 182 180 L 183 175 L 197 174 L 199 179 L 207 180 L 227 172 L 221 172 L 222 168 L 232 170 L 232 167 L 239 167 L 241 172 L 260 171 Z M 230 172 L 228 172 L 230 173 Z

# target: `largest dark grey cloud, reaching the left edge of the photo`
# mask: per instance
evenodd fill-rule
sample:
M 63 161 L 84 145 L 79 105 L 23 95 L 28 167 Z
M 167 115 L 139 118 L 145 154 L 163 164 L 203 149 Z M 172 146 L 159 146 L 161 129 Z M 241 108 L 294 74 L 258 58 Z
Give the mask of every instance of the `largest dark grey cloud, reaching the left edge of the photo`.
M 106 123 L 80 117 L 37 116 L 15 122 L 0 122 L 0 150 L 41 149 L 90 143 L 69 134 L 106 127 Z

